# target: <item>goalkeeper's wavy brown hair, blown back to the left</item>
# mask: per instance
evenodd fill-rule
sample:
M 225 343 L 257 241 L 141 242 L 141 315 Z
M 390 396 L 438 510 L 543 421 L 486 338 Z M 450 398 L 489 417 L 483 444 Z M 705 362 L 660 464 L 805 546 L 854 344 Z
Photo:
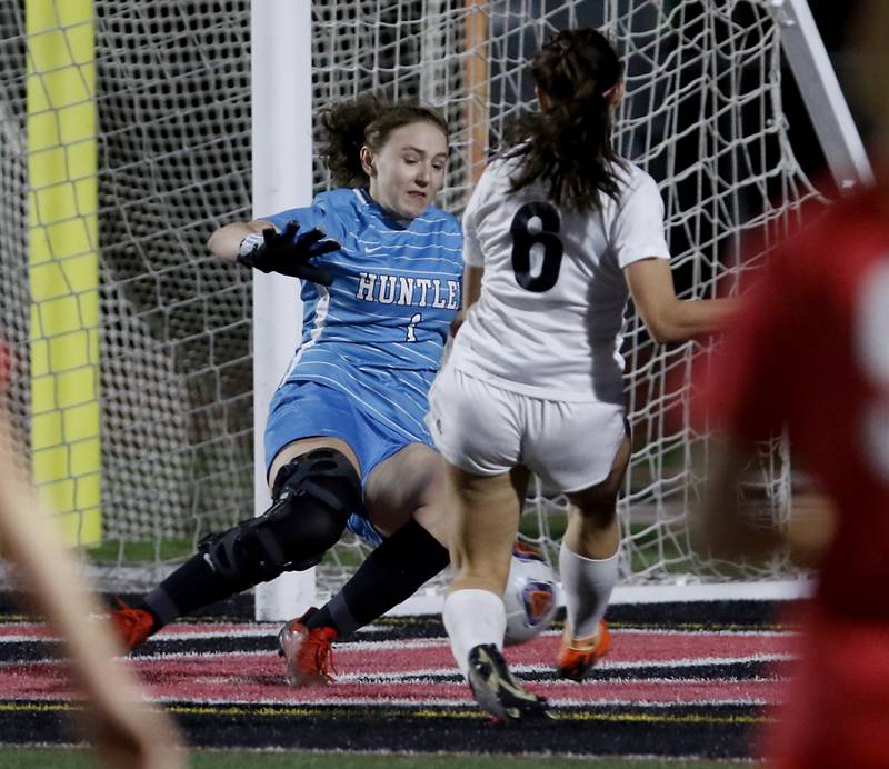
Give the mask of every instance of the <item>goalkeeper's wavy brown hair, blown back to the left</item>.
M 429 107 L 390 103 L 368 93 L 342 101 L 321 113 L 324 143 L 321 157 L 337 187 L 366 187 L 370 179 L 361 167 L 361 148 L 379 152 L 392 131 L 411 123 L 426 122 L 441 129 L 448 138 L 444 118 Z

